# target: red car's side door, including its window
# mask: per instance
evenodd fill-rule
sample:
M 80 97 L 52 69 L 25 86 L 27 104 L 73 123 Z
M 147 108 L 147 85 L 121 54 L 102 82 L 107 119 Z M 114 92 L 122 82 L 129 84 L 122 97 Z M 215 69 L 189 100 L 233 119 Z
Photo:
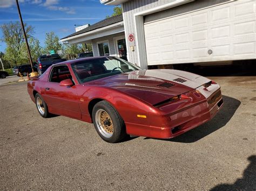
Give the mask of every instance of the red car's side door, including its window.
M 53 67 L 48 82 L 45 83 L 43 98 L 48 104 L 49 112 L 80 119 L 76 85 L 59 86 L 60 81 L 69 78 L 72 80 L 68 66 Z

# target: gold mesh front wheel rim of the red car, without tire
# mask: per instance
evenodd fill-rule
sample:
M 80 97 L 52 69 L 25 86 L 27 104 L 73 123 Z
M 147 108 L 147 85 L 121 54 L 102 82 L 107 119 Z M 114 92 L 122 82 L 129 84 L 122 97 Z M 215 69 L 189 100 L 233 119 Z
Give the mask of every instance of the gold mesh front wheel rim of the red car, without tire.
M 95 121 L 99 132 L 106 138 L 113 135 L 114 126 L 109 114 L 103 109 L 99 109 L 95 115 Z

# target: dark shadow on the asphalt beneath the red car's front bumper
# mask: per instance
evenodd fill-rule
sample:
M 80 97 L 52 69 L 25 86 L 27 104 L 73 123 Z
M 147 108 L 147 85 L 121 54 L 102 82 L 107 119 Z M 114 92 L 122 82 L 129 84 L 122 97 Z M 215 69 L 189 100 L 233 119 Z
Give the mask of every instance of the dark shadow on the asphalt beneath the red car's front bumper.
M 161 139 L 170 142 L 180 142 L 180 143 L 193 143 L 197 142 L 199 139 L 206 137 L 214 131 L 223 128 L 228 121 L 232 118 L 235 111 L 238 109 L 241 102 L 233 97 L 228 97 L 223 95 L 224 105 L 223 108 L 211 119 L 211 121 L 198 126 L 178 137 L 171 139 Z M 145 138 L 151 139 L 151 138 Z

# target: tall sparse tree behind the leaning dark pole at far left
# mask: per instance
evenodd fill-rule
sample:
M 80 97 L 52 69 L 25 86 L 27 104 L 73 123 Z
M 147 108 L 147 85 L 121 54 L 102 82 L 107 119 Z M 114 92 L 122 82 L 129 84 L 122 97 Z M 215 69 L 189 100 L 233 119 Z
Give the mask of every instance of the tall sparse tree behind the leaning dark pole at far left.
M 27 38 L 32 38 L 32 34 L 34 33 L 33 27 L 26 23 L 24 23 L 24 27 Z M 4 59 L 15 63 L 15 66 L 17 66 L 18 62 L 22 62 L 21 49 L 25 40 L 21 24 L 19 22 L 10 22 L 1 25 L 0 28 L 3 33 L 1 40 L 6 44 Z M 27 53 L 27 51 L 25 52 Z

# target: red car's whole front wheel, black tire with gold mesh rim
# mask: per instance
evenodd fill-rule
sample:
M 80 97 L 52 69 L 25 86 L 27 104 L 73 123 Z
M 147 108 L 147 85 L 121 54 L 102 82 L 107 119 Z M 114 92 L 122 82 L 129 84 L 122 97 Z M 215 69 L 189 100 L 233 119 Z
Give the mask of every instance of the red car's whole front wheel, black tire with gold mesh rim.
M 117 143 L 126 136 L 124 120 L 109 102 L 100 101 L 93 107 L 92 121 L 105 142 Z

